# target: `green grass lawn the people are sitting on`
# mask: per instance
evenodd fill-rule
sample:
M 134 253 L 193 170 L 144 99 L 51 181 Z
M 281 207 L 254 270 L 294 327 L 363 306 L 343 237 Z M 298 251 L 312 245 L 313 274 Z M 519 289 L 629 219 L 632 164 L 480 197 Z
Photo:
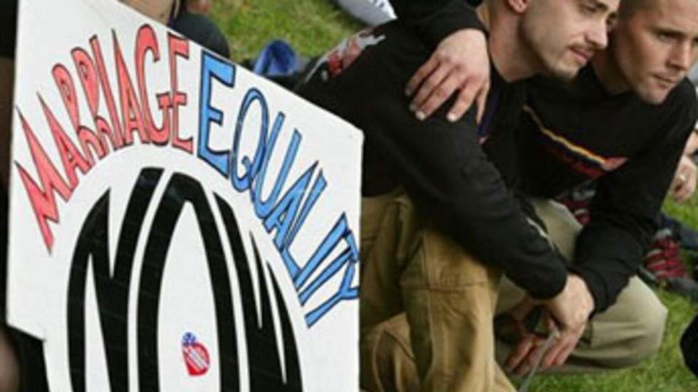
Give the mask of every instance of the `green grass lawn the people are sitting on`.
M 228 36 L 236 61 L 253 58 L 273 38 L 288 41 L 301 55 L 318 55 L 361 28 L 328 0 L 214 0 L 212 17 Z M 665 211 L 698 228 L 698 196 L 683 205 L 667 201 Z M 698 391 L 698 378 L 684 367 L 678 350 L 681 333 L 698 307 L 663 290 L 658 294 L 670 309 L 659 353 L 640 366 L 622 371 L 539 376 L 531 391 Z

